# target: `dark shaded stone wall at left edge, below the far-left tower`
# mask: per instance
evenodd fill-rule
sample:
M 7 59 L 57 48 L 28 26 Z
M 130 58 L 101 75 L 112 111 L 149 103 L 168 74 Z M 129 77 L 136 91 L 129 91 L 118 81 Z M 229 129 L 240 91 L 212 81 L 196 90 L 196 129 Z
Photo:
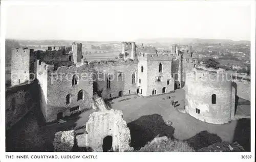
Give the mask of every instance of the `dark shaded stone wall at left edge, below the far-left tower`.
M 6 90 L 6 129 L 22 119 L 37 102 L 36 84 L 15 86 Z

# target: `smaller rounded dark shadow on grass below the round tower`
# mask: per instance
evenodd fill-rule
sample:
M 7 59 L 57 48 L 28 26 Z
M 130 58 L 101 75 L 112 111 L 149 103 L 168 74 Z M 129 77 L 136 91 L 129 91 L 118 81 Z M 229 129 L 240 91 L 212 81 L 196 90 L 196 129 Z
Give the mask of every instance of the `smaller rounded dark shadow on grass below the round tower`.
M 185 140 L 195 151 L 208 147 L 217 142 L 222 142 L 221 138 L 217 134 L 209 133 L 204 130 L 197 133 L 195 136 Z

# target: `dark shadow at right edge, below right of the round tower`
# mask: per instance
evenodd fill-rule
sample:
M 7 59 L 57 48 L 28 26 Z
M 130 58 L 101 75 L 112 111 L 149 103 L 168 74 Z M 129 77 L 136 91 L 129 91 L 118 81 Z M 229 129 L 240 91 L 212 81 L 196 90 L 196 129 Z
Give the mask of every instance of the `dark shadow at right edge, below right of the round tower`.
M 246 151 L 251 151 L 251 120 L 239 119 L 234 129 L 233 142 L 238 142 Z

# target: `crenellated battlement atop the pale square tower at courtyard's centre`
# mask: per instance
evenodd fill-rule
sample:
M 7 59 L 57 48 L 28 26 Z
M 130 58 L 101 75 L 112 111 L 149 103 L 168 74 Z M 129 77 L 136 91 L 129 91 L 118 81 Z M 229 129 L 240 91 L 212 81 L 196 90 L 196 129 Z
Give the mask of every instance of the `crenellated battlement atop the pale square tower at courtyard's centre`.
M 173 60 L 176 59 L 176 54 L 170 54 L 170 53 L 144 53 L 140 52 L 138 55 L 138 60 L 144 60 L 144 61 L 162 61 L 162 60 Z

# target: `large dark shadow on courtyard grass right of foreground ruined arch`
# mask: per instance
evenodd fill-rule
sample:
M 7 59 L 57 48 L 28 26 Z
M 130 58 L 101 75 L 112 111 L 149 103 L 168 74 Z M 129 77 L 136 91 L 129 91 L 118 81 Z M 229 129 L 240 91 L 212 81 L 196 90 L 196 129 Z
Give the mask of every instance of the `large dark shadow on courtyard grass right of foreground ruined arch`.
M 131 132 L 131 147 L 138 150 L 156 136 L 174 139 L 174 127 L 165 124 L 161 115 L 142 116 L 127 124 Z

